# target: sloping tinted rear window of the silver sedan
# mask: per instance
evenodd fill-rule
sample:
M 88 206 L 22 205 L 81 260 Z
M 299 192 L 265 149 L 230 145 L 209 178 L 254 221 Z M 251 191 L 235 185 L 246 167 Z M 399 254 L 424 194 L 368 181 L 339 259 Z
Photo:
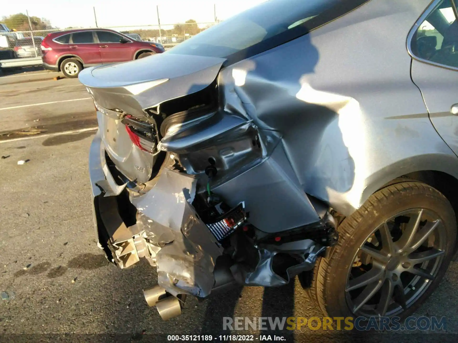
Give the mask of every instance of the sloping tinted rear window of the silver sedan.
M 169 54 L 237 62 L 274 48 L 343 16 L 369 0 L 269 0 L 170 49 Z

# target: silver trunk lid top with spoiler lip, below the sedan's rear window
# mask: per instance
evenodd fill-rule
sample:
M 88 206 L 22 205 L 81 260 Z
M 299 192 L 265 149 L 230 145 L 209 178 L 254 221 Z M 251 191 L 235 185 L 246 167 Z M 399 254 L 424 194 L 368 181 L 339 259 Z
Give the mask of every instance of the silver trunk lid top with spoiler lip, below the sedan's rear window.
M 137 116 L 144 114 L 143 109 L 207 87 L 224 61 L 217 57 L 156 54 L 148 59 L 84 69 L 79 80 L 100 106 L 120 108 Z

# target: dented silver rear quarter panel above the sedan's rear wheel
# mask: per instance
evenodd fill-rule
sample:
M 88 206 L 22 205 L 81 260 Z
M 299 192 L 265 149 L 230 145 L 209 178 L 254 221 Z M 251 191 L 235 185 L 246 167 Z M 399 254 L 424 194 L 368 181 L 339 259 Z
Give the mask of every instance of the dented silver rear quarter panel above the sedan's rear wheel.
M 410 79 L 405 38 L 388 34 L 409 32 L 427 5 L 370 1 L 219 76 L 226 106 L 237 102 L 231 108 L 259 127 L 288 133 L 283 143 L 301 187 L 342 214 L 409 172 L 457 175 L 456 156 L 431 126 Z M 374 30 L 382 25 L 390 31 Z M 361 44 L 366 48 L 358 53 Z M 342 61 L 347 55 L 351 60 Z

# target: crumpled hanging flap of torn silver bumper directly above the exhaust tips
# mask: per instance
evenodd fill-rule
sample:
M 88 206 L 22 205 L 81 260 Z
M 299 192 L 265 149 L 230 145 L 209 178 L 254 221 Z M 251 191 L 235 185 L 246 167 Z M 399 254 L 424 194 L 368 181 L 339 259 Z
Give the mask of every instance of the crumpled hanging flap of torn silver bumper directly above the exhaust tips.
M 154 188 L 132 199 L 139 211 L 136 225 L 161 247 L 156 254 L 158 284 L 175 296 L 209 295 L 215 261 L 223 252 L 190 204 L 195 186 L 195 178 L 163 169 Z

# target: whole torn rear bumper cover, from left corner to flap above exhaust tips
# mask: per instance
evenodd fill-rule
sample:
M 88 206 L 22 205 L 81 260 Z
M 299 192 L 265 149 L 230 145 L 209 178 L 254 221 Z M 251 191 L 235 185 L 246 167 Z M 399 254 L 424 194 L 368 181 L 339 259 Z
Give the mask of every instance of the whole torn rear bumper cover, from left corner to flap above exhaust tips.
M 146 257 L 157 266 L 158 284 L 170 294 L 210 294 L 223 248 L 190 204 L 195 178 L 164 169 L 149 192 L 131 199 L 137 221 L 126 226 L 113 201 L 123 187 L 109 172 L 99 134 L 91 146 L 90 176 L 98 245 L 112 262 L 127 268 Z

